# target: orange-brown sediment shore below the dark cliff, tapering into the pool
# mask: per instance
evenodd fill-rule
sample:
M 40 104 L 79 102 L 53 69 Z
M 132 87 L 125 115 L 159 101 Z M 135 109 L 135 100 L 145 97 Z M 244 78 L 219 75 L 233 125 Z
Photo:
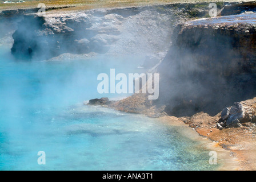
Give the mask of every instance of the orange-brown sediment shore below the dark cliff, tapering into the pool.
M 107 107 L 128 113 L 145 114 L 149 117 L 159 115 L 160 117 L 157 118 L 159 122 L 172 126 L 185 126 L 181 131 L 185 137 L 204 141 L 203 147 L 207 150 L 217 151 L 218 163 L 221 163 L 219 170 L 256 170 L 256 126 L 254 125 L 256 97 L 241 102 L 245 107 L 245 120 L 241 122 L 242 127 L 223 130 L 216 127 L 221 118 L 221 112 L 215 116 L 200 112 L 192 117 L 174 117 L 158 113 L 157 111 L 160 110 L 153 108 L 151 103 L 149 103 L 150 109 L 147 109 L 145 105 L 138 102 L 143 102 L 142 98 L 134 94 L 129 99 L 112 102 Z M 138 110 L 138 108 L 140 109 Z M 194 131 L 197 131 L 199 135 Z

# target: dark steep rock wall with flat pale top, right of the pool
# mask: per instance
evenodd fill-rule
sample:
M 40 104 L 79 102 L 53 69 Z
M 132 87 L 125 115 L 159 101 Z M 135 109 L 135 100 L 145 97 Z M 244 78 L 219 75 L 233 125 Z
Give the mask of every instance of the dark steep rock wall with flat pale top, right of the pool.
M 206 111 L 255 96 L 256 14 L 198 19 L 179 24 L 159 65 L 160 97 L 174 115 Z M 167 91 L 169 90 L 169 91 Z

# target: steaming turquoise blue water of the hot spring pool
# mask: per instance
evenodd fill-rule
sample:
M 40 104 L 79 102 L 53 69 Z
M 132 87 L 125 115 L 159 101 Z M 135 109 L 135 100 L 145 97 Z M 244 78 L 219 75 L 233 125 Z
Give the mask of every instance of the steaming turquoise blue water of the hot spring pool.
M 209 151 L 181 127 L 81 104 L 104 96 L 99 73 L 143 72 L 137 59 L 17 62 L 0 47 L 0 170 L 215 169 Z

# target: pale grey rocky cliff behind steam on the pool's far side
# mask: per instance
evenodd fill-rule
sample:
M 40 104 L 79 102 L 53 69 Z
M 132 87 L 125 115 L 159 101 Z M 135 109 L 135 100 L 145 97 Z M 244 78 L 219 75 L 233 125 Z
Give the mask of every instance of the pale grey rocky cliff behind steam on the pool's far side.
M 165 52 L 174 24 L 189 18 L 182 7 L 174 6 L 27 14 L 13 34 L 11 51 L 18 59 L 49 59 L 62 53 Z

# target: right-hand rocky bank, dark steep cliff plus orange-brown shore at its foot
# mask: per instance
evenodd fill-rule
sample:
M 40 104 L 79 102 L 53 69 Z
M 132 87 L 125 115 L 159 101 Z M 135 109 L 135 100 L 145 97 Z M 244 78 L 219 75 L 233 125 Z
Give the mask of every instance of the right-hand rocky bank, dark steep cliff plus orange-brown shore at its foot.
M 239 169 L 256 169 L 256 14 L 235 14 L 177 24 L 165 59 L 150 70 L 160 74 L 158 100 L 134 94 L 109 106 L 174 115 L 231 150 Z

